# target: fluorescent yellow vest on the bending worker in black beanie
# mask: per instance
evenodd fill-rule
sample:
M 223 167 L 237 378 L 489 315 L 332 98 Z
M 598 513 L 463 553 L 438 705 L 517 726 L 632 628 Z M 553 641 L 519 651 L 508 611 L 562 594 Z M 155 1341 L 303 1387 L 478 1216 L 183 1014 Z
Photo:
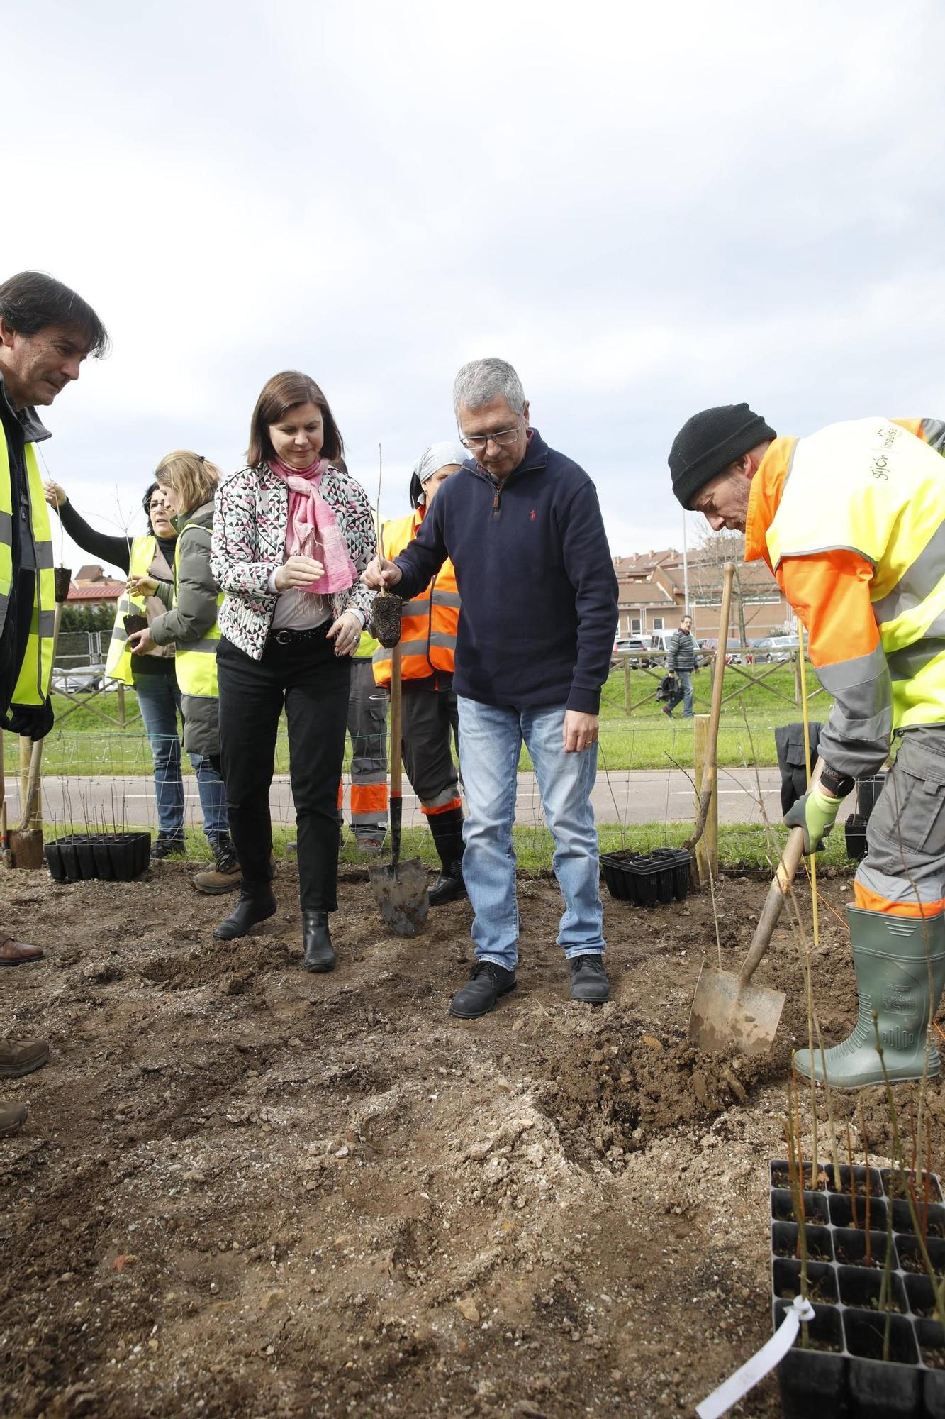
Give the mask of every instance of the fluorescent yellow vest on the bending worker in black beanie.
M 888 419 L 830 424 L 796 440 L 766 545 L 775 570 L 785 558 L 839 548 L 871 562 L 870 600 L 892 683 L 892 728 L 945 721 L 945 477 L 938 453 Z M 823 667 L 817 671 L 827 688 L 830 670 L 826 678 Z

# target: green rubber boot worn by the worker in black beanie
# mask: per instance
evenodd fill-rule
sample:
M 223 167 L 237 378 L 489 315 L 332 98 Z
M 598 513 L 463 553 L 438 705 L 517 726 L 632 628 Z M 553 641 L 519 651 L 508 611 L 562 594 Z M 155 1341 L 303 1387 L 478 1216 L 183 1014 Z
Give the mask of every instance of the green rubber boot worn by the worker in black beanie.
M 912 918 L 847 907 L 847 917 L 860 1012 L 853 1034 L 824 1051 L 827 1083 L 833 1088 L 866 1088 L 867 1084 L 883 1083 L 874 1012 L 890 1081 L 921 1078 L 928 1022 L 938 1010 L 945 988 L 945 912 Z M 797 1050 L 795 1064 L 800 1074 L 810 1078 L 810 1050 Z M 942 1061 L 932 1046 L 928 1077 L 936 1078 L 941 1071 Z M 814 1050 L 813 1077 L 817 1083 L 823 1081 L 819 1050 Z

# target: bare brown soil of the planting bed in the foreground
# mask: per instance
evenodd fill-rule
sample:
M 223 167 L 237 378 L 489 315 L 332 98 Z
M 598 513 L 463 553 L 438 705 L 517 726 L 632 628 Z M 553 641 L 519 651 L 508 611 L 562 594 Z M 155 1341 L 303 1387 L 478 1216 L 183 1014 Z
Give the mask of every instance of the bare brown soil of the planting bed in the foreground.
M 823 887 L 841 912 L 849 883 Z M 465 902 L 404 941 L 352 874 L 339 966 L 309 976 L 291 867 L 277 888 L 258 935 L 214 942 L 231 898 L 184 864 L 0 878 L 7 924 L 48 951 L 1 973 L 0 1022 L 52 1046 L 3 1086 L 30 1120 L 0 1139 L 0 1413 L 691 1412 L 770 1334 L 768 1162 L 806 1043 L 795 935 L 759 973 L 789 999 L 749 1063 L 687 1040 L 717 959 L 708 894 L 607 900 L 613 999 L 592 1007 L 568 995 L 555 883 L 521 881 L 519 988 L 461 1023 Z M 728 968 L 765 890 L 717 887 Z M 814 976 L 839 1039 L 856 995 L 829 911 Z M 938 1086 L 927 1111 L 939 1171 Z M 857 1161 L 864 1132 L 888 1158 L 880 1090 L 834 1095 L 843 1162 L 847 1121 Z M 775 1381 L 739 1412 L 779 1413 Z

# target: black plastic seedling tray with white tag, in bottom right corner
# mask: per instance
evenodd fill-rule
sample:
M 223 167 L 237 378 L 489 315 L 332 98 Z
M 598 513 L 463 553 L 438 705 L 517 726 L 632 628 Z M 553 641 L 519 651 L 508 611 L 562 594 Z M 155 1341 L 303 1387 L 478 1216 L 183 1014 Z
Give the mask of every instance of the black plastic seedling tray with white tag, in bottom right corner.
M 803 1191 L 807 1240 L 807 1296 L 814 1320 L 807 1327 L 810 1349 L 800 1337 L 778 1369 L 780 1403 L 788 1419 L 810 1419 L 812 1413 L 849 1419 L 945 1419 L 945 1334 L 935 1318 L 932 1283 L 925 1271 L 908 1202 L 902 1196 L 904 1175 L 890 1168 L 870 1169 L 871 1266 L 866 1264 L 866 1169 L 853 1169 L 854 1205 L 850 1198 L 850 1169 L 840 1169 L 840 1186 L 833 1185 L 833 1168 L 823 1169 L 823 1191 Z M 779 1186 L 788 1164 L 770 1164 L 772 1315 L 780 1325 L 792 1298 L 800 1294 L 797 1260 L 799 1225 L 788 1188 Z M 905 1175 L 912 1178 L 912 1175 Z M 810 1182 L 805 1164 L 803 1181 Z M 945 1226 L 942 1189 L 931 1175 L 927 1247 L 935 1271 L 945 1274 Z M 919 1225 L 924 1212 L 924 1175 L 915 1179 Z M 883 1359 L 887 1311 L 880 1308 L 887 1252 L 887 1226 L 892 1223 L 890 1267 L 888 1340 L 890 1359 Z

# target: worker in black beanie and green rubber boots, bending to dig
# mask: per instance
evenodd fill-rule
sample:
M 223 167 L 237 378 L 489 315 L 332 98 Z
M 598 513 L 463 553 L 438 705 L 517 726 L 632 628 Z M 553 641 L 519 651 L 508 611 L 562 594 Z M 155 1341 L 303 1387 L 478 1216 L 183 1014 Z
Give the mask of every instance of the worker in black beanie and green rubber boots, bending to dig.
M 857 779 L 895 762 L 847 910 L 858 1017 L 826 1051 L 837 1088 L 941 1073 L 929 1043 L 945 988 L 945 424 L 856 419 L 778 438 L 748 404 L 694 414 L 673 491 L 745 534 L 806 626 L 834 704 L 814 785 L 785 815 L 816 851 Z M 875 1022 L 875 1023 L 874 1023 Z M 883 1061 L 877 1050 L 877 1027 Z M 820 1056 L 795 1054 L 823 1078 Z

